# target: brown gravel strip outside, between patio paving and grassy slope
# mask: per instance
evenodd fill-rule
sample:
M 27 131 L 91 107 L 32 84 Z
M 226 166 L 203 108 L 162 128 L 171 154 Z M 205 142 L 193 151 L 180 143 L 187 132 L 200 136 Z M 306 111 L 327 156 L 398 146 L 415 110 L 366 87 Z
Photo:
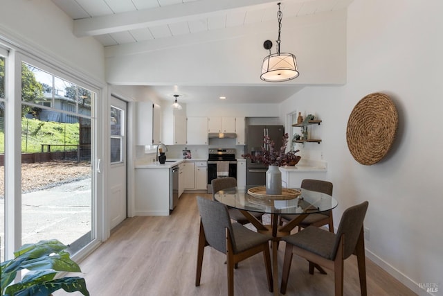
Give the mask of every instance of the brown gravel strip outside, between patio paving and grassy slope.
M 51 188 L 91 177 L 91 163 L 51 161 L 21 164 L 23 193 Z M 0 198 L 4 193 L 4 168 L 0 167 Z

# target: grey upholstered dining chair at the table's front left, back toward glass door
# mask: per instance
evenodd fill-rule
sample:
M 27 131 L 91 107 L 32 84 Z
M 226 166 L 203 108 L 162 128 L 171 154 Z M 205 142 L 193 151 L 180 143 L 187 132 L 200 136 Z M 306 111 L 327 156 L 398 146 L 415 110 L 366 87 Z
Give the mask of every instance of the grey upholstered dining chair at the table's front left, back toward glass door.
M 269 291 L 273 291 L 269 240 L 272 236 L 253 232 L 239 223 L 231 223 L 228 207 L 221 202 L 197 196 L 200 213 L 199 247 L 195 286 L 200 286 L 204 248 L 209 245 L 226 254 L 228 295 L 234 295 L 234 266 L 255 254 L 263 252 Z

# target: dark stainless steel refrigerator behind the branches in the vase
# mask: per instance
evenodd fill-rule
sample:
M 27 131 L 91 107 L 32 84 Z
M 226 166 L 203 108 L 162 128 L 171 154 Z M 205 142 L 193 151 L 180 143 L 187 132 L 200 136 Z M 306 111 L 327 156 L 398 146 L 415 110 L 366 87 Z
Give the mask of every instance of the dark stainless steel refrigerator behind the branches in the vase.
M 246 127 L 246 153 L 257 155 L 262 153 L 264 136 L 275 143 L 275 149 L 280 150 L 283 141 L 283 125 L 248 125 Z M 269 149 L 269 147 L 264 147 Z M 264 185 L 266 183 L 267 164 L 246 159 L 246 185 Z

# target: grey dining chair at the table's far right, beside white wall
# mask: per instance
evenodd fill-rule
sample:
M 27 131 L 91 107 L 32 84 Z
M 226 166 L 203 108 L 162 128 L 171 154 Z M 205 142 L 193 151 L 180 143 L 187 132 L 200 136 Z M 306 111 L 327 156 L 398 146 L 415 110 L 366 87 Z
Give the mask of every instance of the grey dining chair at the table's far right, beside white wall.
M 300 185 L 302 189 L 310 191 L 316 191 L 332 195 L 332 183 L 323 180 L 304 179 Z M 282 222 L 292 220 L 294 215 L 281 215 Z M 280 223 L 282 224 L 282 223 Z M 329 226 L 329 232 L 334 232 L 334 219 L 332 218 L 332 210 L 325 211 L 318 214 L 310 214 L 298 225 L 298 231 L 302 228 L 306 228 L 309 225 L 320 227 L 323 225 Z

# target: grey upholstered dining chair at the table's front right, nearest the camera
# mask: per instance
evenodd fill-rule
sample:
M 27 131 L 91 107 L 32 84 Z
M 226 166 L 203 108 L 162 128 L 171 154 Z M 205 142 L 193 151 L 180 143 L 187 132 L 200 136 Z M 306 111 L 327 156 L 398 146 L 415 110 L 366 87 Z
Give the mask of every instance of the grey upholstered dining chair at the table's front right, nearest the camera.
M 296 234 L 282 238 L 286 241 L 280 287 L 282 294 L 286 293 L 292 255 L 295 253 L 309 261 L 311 275 L 314 274 L 314 263 L 334 270 L 336 296 L 343 295 L 344 260 L 351 254 L 356 254 L 361 295 L 367 295 L 363 220 L 368 204 L 365 201 L 346 209 L 341 217 L 337 234 L 309 226 Z

